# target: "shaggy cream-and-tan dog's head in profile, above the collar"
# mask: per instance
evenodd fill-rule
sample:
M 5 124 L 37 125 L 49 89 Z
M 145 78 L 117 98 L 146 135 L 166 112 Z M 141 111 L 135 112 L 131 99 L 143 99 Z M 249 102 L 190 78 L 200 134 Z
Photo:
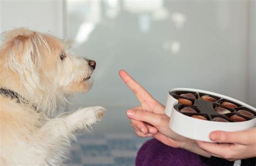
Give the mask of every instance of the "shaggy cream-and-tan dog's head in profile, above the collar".
M 4 32 L 1 37 L 0 86 L 28 100 L 36 98 L 32 101 L 38 104 L 53 100 L 52 105 L 92 86 L 90 76 L 96 62 L 73 56 L 70 41 L 25 28 Z

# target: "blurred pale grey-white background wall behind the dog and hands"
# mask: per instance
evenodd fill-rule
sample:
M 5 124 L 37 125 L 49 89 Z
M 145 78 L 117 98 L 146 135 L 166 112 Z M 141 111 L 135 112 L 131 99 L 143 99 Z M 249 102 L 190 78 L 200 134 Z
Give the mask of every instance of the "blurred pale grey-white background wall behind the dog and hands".
M 165 104 L 174 87 L 205 89 L 256 106 L 256 1 L 1 0 L 0 32 L 14 27 L 68 36 L 78 56 L 97 61 L 94 86 L 71 109 L 101 105 L 96 133 L 132 132 L 139 105 L 124 68 Z

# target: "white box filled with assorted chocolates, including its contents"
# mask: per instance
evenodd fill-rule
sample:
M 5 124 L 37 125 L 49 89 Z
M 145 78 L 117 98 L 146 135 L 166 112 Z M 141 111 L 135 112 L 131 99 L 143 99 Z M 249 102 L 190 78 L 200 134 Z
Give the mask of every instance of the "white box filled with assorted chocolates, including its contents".
M 193 140 L 212 142 L 215 130 L 235 132 L 256 127 L 256 109 L 218 93 L 191 88 L 169 91 L 165 114 L 173 132 Z

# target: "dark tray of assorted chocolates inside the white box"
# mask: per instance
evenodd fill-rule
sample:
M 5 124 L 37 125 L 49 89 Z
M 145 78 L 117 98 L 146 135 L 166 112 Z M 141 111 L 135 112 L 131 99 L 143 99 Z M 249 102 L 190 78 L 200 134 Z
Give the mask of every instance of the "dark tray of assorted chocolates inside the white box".
M 245 121 L 246 123 L 256 119 L 256 113 L 250 107 L 218 94 L 189 91 L 189 89 L 169 93 L 179 102 L 177 105 L 173 105 L 173 108 L 185 116 L 213 121 L 216 125 L 218 125 L 217 122 Z M 206 121 L 203 121 L 203 123 Z

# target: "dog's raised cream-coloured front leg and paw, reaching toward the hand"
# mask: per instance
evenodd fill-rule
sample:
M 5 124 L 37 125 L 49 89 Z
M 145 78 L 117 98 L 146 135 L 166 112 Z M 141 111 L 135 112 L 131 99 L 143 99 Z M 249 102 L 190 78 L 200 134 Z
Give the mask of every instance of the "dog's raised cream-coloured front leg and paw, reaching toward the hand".
M 93 123 L 102 119 L 105 113 L 103 107 L 87 107 L 71 114 L 65 114 L 45 123 L 41 129 L 43 146 L 46 147 L 49 164 L 62 164 L 68 158 L 68 147 L 75 140 L 75 133 L 87 129 Z

